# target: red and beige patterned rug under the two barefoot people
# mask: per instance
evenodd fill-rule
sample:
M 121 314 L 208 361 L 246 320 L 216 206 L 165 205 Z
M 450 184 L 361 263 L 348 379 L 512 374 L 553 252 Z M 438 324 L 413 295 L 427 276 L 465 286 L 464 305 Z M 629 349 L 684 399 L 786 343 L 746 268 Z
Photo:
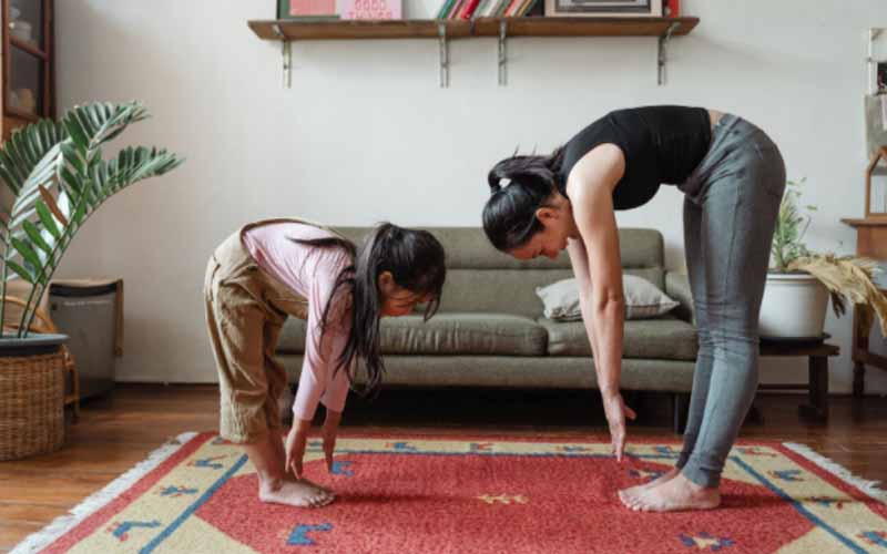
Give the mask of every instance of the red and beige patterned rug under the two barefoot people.
M 192 433 L 13 552 L 887 552 L 884 493 L 799 445 L 737 445 L 718 510 L 624 509 L 616 491 L 677 448 L 618 463 L 603 441 L 344 438 L 329 475 L 312 442 L 307 475 L 338 500 L 307 510 L 261 503 L 246 456 Z

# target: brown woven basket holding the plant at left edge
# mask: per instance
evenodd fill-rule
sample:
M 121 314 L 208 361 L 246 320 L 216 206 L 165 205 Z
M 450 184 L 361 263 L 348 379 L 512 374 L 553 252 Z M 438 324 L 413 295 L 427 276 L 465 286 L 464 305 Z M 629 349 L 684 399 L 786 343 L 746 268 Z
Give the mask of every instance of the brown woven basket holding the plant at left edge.
M 0 357 L 0 460 L 52 452 L 64 441 L 64 353 Z

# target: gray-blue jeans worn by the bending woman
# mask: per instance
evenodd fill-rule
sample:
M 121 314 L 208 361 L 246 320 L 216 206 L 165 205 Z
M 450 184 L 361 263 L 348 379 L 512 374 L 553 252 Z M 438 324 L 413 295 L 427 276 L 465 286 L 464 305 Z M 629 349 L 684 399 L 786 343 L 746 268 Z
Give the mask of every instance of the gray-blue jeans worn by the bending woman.
M 726 114 L 680 188 L 700 349 L 677 468 L 717 486 L 757 389 L 757 319 L 785 164 L 763 131 Z

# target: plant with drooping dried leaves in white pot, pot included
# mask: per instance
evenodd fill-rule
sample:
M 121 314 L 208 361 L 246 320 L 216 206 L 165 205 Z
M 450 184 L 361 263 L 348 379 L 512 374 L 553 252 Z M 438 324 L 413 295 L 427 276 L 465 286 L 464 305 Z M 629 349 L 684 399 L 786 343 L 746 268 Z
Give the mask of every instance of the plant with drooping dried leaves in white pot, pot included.
M 810 253 L 804 235 L 809 214 L 798 207 L 805 179 L 787 183 L 779 206 L 761 305 L 759 331 L 765 338 L 822 338 L 828 298 L 835 315 L 846 311 L 846 301 L 870 306 L 887 332 L 887 298 L 871 283 L 877 263 L 858 256 Z M 815 211 L 815 206 L 806 206 Z

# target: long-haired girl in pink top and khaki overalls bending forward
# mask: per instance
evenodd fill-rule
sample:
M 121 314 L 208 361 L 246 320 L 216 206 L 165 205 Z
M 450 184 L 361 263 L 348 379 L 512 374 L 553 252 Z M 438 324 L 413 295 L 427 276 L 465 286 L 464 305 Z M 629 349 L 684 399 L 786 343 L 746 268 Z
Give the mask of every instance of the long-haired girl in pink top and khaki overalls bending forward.
M 374 228 L 359 250 L 330 229 L 298 219 L 246 225 L 216 248 L 204 295 L 222 393 L 220 434 L 243 445 L 263 502 L 333 501 L 332 492 L 302 479 L 317 404 L 326 407 L 323 442 L 332 468 L 350 382 L 361 369 L 366 393 L 381 382 L 379 318 L 426 304 L 427 320 L 445 277 L 440 243 L 428 232 L 391 224 Z M 307 337 L 284 447 L 277 401 L 286 371 L 274 351 L 287 315 L 307 320 Z

